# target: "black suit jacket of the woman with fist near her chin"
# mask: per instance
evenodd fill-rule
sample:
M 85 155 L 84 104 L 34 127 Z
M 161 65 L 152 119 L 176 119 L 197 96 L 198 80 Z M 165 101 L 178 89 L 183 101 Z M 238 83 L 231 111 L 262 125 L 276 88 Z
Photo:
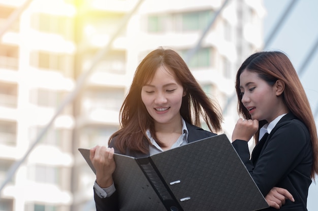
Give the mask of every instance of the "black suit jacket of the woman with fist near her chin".
M 307 210 L 312 166 L 308 129 L 288 113 L 267 135 L 253 149 L 251 159 L 246 141 L 236 140 L 233 146 L 264 196 L 273 187 L 287 189 L 294 196 L 295 202 L 286 200 L 279 210 Z M 269 207 L 264 210 L 277 209 Z

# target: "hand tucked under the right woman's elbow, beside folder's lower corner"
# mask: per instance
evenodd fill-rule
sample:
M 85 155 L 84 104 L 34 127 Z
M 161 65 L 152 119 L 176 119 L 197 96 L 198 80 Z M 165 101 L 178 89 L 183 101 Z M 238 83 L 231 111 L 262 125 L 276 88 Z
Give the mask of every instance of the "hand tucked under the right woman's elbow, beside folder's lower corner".
M 285 204 L 285 199 L 295 201 L 288 190 L 278 187 L 273 187 L 265 197 L 268 205 L 276 209 L 280 209 L 280 207 Z

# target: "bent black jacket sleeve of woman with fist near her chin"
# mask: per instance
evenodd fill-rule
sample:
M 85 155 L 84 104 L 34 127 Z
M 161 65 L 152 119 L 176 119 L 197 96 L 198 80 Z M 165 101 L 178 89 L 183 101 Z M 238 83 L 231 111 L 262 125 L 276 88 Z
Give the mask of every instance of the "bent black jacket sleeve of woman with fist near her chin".
M 277 130 L 274 129 L 268 136 L 258 160 L 254 163 L 247 155 L 247 142 L 245 146 L 240 140 L 233 142 L 234 148 L 264 196 L 308 155 L 307 149 L 310 145 L 309 132 L 302 122 L 292 120 L 276 126 Z M 253 151 L 255 150 L 256 148 Z

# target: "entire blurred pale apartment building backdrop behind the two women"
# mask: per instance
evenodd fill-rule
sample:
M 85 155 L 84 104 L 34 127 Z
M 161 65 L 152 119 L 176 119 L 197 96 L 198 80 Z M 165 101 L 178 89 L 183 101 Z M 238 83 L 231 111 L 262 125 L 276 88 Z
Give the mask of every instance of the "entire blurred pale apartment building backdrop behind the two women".
M 0 0 L 0 28 L 25 1 Z M 0 37 L 0 183 L 94 65 L 138 0 L 35 0 Z M 235 0 L 215 19 L 201 48 L 188 53 L 223 0 L 143 1 L 0 193 L 0 211 L 94 210 L 94 175 L 78 148 L 106 145 L 142 58 L 159 46 L 177 50 L 224 111 L 224 132 L 237 119 L 234 78 L 263 45 L 262 0 Z M 204 126 L 204 125 L 203 125 Z

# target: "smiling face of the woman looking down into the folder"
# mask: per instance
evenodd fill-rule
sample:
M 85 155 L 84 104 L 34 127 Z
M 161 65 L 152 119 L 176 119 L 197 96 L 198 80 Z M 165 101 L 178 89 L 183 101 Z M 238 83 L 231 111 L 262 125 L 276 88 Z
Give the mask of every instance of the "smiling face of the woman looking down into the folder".
M 141 99 L 155 124 L 180 124 L 180 107 L 185 95 L 172 71 L 160 66 L 141 90 Z

